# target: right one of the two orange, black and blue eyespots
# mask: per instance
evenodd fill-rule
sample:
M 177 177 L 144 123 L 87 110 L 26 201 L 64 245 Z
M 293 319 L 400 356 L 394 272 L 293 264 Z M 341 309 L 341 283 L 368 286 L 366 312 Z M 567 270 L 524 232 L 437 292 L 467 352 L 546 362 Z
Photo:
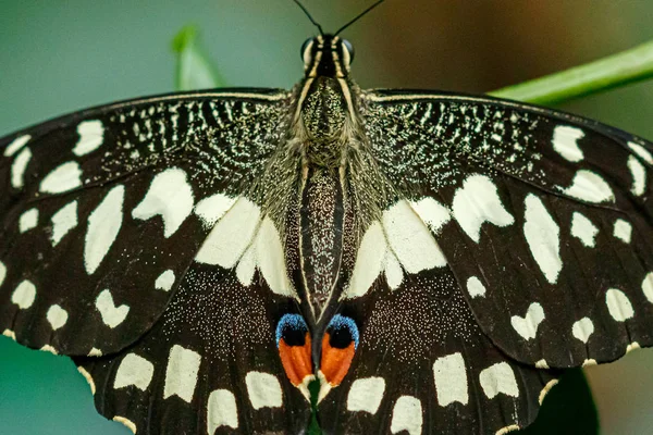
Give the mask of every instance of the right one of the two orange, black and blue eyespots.
M 343 381 L 354 353 L 358 349 L 358 326 L 352 318 L 335 314 L 322 338 L 322 359 L 320 361 L 321 377 L 330 386 L 337 386 Z

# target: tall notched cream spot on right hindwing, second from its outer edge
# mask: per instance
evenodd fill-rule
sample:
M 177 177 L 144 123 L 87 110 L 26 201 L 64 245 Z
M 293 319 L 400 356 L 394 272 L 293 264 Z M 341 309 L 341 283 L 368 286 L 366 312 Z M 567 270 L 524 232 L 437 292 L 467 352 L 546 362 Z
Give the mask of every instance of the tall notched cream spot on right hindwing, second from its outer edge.
M 433 363 L 435 396 L 441 407 L 458 401 L 469 401 L 467 370 L 463 353 L 456 352 L 441 357 Z

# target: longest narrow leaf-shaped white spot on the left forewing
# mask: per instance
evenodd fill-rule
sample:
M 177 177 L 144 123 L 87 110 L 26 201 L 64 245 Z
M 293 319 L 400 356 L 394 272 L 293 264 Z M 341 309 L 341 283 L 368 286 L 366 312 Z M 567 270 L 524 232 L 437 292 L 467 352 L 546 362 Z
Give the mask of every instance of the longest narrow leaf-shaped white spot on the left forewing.
M 98 269 L 118 237 L 123 221 L 124 198 L 125 187 L 115 186 L 88 216 L 84 266 L 89 275 Z

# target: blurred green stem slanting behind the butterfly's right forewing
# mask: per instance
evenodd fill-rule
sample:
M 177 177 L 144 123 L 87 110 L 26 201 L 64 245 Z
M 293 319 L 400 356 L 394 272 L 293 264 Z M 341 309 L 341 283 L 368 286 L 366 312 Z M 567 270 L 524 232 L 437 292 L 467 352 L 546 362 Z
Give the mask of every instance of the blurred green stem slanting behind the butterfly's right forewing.
M 584 65 L 489 92 L 493 97 L 555 104 L 653 77 L 653 41 Z

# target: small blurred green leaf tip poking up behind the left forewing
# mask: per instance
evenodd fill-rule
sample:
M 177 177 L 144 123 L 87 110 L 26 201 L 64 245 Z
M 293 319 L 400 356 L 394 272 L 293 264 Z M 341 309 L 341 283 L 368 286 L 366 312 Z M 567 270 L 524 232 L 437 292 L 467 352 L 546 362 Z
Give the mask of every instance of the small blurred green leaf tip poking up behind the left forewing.
M 176 90 L 194 90 L 224 86 L 218 70 L 201 50 L 198 29 L 195 25 L 184 26 L 172 40 L 177 54 L 174 87 Z

